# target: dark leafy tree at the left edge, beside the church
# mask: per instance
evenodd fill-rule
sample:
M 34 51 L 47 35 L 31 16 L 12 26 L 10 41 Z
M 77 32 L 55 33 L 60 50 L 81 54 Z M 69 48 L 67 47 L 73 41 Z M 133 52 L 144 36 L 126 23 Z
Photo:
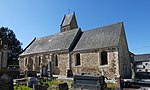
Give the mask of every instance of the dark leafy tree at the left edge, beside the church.
M 22 43 L 16 38 L 12 30 L 5 27 L 0 28 L 0 38 L 2 38 L 2 42 L 8 45 L 8 50 L 10 50 L 8 65 L 18 65 L 18 57 L 22 53 Z

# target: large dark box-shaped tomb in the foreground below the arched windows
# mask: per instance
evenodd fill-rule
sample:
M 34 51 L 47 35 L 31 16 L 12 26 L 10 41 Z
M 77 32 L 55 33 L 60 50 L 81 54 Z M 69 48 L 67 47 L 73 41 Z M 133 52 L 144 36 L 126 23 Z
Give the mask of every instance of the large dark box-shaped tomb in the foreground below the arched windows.
M 104 76 L 74 75 L 75 89 L 104 90 L 105 87 Z

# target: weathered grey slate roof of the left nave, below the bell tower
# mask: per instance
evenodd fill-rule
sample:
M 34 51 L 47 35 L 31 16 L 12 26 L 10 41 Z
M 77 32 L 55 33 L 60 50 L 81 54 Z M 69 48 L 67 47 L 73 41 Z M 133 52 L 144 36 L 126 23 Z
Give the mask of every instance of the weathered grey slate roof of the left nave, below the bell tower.
M 78 32 L 79 28 L 38 38 L 21 55 L 68 50 Z

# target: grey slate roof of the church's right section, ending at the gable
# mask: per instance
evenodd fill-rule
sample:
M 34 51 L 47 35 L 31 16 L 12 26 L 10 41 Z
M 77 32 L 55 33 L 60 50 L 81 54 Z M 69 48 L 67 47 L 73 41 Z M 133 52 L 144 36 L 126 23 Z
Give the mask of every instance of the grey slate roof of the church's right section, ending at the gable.
M 83 32 L 74 51 L 118 46 L 123 23 L 116 23 Z

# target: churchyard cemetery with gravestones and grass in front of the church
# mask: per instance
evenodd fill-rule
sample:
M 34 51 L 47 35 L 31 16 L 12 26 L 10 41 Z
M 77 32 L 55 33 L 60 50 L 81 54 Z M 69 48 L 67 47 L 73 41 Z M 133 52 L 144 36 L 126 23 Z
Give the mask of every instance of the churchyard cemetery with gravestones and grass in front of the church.
M 104 76 L 89 73 L 58 78 L 51 73 L 50 66 L 39 74 L 32 71 L 20 74 L 15 67 L 10 68 L 1 69 L 0 90 L 113 90 L 118 87 L 117 84 L 106 83 Z

